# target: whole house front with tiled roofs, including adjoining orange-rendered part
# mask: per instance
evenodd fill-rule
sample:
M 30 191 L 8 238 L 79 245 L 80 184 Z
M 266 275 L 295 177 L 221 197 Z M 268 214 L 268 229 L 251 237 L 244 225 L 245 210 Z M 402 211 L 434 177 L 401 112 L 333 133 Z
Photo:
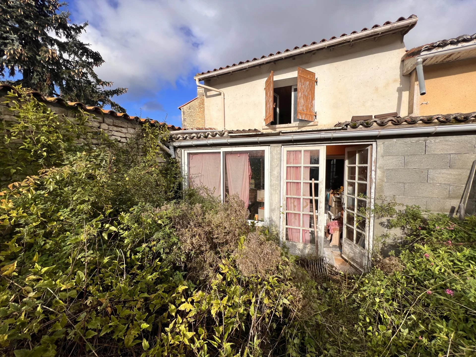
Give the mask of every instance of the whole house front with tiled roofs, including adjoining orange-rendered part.
M 454 212 L 475 160 L 475 36 L 407 51 L 416 23 L 198 73 L 185 129 L 172 132 L 184 186 L 237 194 L 291 253 L 342 269 L 368 266 L 383 228 L 362 212 L 378 199 Z

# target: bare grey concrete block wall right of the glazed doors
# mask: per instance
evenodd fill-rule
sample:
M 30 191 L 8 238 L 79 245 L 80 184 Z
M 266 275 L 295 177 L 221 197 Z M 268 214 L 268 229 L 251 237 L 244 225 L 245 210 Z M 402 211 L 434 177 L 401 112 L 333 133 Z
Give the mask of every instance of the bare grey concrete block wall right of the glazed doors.
M 458 207 L 471 165 L 475 135 L 377 141 L 376 196 L 450 213 Z

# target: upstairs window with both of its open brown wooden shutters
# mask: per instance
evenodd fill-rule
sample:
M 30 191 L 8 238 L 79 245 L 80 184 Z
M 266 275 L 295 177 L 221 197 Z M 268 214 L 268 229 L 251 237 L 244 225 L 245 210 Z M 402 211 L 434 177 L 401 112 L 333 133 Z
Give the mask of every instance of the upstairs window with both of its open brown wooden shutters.
M 265 125 L 314 121 L 316 74 L 297 67 L 297 84 L 275 88 L 274 72 L 265 83 Z

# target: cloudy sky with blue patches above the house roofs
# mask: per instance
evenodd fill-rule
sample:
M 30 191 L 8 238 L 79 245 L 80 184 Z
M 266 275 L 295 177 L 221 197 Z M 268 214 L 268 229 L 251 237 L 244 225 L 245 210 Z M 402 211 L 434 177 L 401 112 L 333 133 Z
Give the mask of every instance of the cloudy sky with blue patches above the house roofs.
M 417 14 L 407 48 L 476 32 L 472 0 L 81 0 L 97 70 L 137 97 L 208 70 Z M 194 74 L 194 73 L 193 73 Z

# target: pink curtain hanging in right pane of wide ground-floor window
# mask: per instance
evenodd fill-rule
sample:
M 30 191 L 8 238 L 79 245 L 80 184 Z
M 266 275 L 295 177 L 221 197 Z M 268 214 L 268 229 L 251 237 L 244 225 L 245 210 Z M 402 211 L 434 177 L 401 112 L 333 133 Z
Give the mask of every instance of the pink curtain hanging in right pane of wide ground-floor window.
M 248 208 L 249 181 L 251 180 L 251 166 L 248 153 L 225 154 L 227 165 L 228 192 L 231 195 L 238 193 L 239 198 Z

